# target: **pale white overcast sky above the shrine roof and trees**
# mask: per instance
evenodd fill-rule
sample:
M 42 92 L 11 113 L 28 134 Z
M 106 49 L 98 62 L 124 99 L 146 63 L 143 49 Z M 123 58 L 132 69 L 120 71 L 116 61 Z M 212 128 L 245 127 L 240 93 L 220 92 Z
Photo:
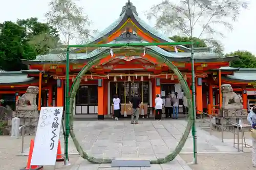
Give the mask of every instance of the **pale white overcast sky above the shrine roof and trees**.
M 247 50 L 256 55 L 256 1 L 250 1 L 249 9 L 243 10 L 238 22 L 233 23 L 233 31 L 226 31 L 225 37 L 217 39 L 224 44 L 225 53 L 237 50 Z M 16 21 L 30 17 L 37 17 L 39 21 L 45 22 L 44 14 L 50 9 L 48 3 L 50 0 L 0 0 L 0 22 L 7 20 Z M 108 27 L 115 19 L 119 17 L 122 7 L 127 0 L 81 0 L 78 5 L 84 8 L 84 13 L 92 20 L 91 29 L 99 31 Z M 162 2 L 162 0 L 131 0 L 136 6 L 139 17 L 154 27 L 154 21 L 147 21 L 145 11 L 152 5 Z M 167 35 L 170 36 L 170 35 Z

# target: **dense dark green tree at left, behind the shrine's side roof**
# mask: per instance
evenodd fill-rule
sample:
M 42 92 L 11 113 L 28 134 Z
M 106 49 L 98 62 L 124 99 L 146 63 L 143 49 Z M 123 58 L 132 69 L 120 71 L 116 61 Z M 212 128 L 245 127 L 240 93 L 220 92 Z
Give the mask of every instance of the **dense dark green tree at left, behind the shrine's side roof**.
M 35 59 L 36 55 L 49 52 L 58 39 L 57 31 L 37 18 L 0 23 L 0 70 L 27 69 L 20 59 Z

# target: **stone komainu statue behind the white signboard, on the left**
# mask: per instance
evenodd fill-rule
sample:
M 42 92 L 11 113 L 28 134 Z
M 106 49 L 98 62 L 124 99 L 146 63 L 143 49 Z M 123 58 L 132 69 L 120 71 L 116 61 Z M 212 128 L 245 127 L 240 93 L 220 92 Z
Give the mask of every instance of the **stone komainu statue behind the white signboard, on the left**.
M 21 97 L 18 97 L 18 100 L 16 101 L 16 110 L 37 110 L 36 94 L 38 94 L 38 92 L 38 87 L 29 86 L 26 93 Z

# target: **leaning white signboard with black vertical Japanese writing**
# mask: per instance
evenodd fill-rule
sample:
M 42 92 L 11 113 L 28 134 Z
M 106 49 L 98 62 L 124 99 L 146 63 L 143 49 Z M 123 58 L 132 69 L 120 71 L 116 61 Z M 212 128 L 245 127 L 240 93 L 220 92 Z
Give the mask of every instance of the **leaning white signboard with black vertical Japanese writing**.
M 31 165 L 55 165 L 63 107 L 41 107 Z

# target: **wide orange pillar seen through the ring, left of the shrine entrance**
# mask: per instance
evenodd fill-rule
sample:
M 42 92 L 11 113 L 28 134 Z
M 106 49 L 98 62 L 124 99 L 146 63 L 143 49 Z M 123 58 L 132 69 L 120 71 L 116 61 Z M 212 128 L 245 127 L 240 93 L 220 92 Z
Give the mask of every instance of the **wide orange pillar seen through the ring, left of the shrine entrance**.
M 101 82 L 101 87 L 98 86 L 98 119 L 104 119 L 104 82 L 103 79 L 99 80 Z

